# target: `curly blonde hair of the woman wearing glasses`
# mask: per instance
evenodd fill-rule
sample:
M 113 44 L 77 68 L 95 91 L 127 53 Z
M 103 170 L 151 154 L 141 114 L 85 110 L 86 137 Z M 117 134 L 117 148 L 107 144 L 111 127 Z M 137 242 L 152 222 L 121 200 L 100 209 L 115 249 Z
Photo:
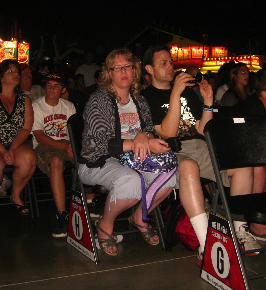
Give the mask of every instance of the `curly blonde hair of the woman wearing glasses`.
M 111 67 L 113 67 L 116 55 L 122 55 L 125 60 L 133 63 L 135 68 L 135 77 L 130 86 L 130 90 L 133 91 L 134 98 L 138 99 L 138 94 L 140 93 L 139 80 L 141 76 L 140 59 L 134 56 L 127 47 L 115 49 L 108 54 L 105 65 L 102 69 L 103 72 L 101 73 L 101 81 L 99 82 L 99 87 L 100 89 L 105 88 L 109 95 L 111 95 L 114 99 L 121 101 L 121 98 L 117 94 L 116 89 L 113 87 L 113 83 L 109 76 L 109 72 L 111 70 Z

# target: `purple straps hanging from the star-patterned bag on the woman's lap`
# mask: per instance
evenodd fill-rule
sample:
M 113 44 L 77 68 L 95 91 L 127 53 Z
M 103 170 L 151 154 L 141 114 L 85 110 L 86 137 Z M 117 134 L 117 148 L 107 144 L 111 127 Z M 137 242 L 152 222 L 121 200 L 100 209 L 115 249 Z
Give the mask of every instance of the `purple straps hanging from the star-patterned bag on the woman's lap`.
M 160 188 L 176 173 L 177 167 L 169 171 L 168 173 L 161 173 L 158 175 L 150 186 L 146 190 L 145 181 L 140 171 L 137 173 L 141 179 L 141 196 L 142 196 L 142 221 L 149 222 L 150 219 L 147 217 L 147 212 L 153 204 L 155 195 L 160 190 Z

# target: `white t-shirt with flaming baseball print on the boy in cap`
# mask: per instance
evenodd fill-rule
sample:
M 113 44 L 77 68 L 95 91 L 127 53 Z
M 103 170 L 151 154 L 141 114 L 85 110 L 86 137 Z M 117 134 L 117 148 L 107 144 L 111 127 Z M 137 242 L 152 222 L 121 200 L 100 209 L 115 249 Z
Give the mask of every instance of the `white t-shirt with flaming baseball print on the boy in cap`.
M 32 131 L 43 130 L 45 135 L 54 140 L 69 140 L 67 120 L 76 113 L 76 109 L 71 102 L 60 98 L 58 104 L 53 107 L 46 103 L 44 96 L 34 101 L 32 107 L 34 111 Z M 38 142 L 33 134 L 33 148 L 37 145 Z

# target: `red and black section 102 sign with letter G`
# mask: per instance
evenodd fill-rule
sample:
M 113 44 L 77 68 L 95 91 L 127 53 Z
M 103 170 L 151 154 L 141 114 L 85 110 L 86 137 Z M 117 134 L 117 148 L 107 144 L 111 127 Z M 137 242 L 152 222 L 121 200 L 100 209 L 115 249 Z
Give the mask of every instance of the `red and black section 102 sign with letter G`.
M 201 278 L 217 289 L 246 289 L 235 246 L 229 222 L 210 214 Z

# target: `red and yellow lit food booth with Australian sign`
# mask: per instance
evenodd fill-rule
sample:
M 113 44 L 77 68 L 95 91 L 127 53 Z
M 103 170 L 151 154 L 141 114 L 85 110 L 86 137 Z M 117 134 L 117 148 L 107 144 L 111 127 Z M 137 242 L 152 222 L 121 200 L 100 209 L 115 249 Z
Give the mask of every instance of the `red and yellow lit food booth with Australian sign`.
M 242 56 L 228 56 L 226 47 L 177 47 L 172 46 L 170 50 L 175 71 L 185 70 L 189 66 L 197 66 L 202 73 L 212 71 L 217 73 L 221 65 L 230 60 L 235 63 L 245 63 L 249 71 L 257 72 L 261 69 L 259 66 L 259 58 L 255 55 L 242 55 Z

